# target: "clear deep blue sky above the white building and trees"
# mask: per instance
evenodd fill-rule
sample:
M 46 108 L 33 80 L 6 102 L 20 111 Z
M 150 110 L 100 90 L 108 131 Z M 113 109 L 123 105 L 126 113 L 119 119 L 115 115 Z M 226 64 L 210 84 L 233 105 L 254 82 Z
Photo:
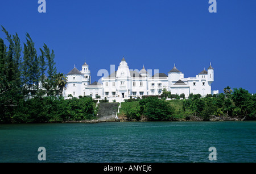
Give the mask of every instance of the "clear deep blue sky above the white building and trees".
M 55 51 L 58 72 L 68 73 L 86 60 L 92 82 L 122 57 L 130 69 L 159 69 L 168 74 L 176 64 L 184 77 L 214 68 L 212 90 L 256 86 L 256 1 L 217 0 L 2 0 L 0 24 L 25 42 L 28 32 L 36 49 L 46 43 Z M 0 37 L 5 34 L 0 32 Z M 6 42 L 7 44 L 7 42 Z

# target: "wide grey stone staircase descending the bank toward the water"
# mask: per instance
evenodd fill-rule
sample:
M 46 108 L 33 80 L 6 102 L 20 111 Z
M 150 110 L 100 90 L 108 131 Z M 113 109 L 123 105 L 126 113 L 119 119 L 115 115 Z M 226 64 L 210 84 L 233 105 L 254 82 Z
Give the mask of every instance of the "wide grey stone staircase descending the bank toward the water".
M 98 121 L 115 121 L 119 103 L 99 103 Z

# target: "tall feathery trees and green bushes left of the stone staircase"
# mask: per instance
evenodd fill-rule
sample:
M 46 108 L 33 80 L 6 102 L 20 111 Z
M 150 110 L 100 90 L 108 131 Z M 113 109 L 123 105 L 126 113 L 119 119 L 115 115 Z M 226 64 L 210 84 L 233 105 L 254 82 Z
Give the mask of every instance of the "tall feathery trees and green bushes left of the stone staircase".
M 94 115 L 92 98 L 61 97 L 65 82 L 57 73 L 54 52 L 43 44 L 35 48 L 30 35 L 20 44 L 18 34 L 10 35 L 2 26 L 9 43 L 0 38 L 0 123 L 43 123 L 80 121 Z

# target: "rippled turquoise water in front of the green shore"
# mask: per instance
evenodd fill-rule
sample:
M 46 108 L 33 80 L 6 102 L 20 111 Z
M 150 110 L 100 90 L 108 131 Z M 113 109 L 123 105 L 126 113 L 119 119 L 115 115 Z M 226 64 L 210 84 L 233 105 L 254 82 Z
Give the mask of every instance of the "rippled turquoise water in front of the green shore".
M 256 122 L 0 125 L 0 162 L 256 162 Z

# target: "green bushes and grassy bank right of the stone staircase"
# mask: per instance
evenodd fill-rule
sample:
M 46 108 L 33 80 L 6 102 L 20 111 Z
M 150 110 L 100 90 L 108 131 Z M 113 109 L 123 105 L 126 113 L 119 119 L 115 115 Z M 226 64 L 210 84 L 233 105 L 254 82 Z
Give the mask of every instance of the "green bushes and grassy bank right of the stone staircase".
M 164 95 L 167 96 L 164 96 Z M 141 100 L 130 99 L 122 104 L 119 115 L 125 115 L 127 119 L 141 119 L 147 117 L 149 121 L 170 121 L 177 119 L 209 120 L 210 115 L 216 117 L 246 117 L 256 118 L 256 96 L 246 89 L 230 89 L 228 86 L 224 93 L 208 94 L 201 97 L 200 94 L 190 94 L 188 99 L 166 100 L 170 92 L 165 92 L 161 97 L 147 97 Z M 177 96 L 177 95 L 174 95 Z M 160 96 L 159 96 L 160 97 Z M 172 97 L 175 98 L 175 97 Z

